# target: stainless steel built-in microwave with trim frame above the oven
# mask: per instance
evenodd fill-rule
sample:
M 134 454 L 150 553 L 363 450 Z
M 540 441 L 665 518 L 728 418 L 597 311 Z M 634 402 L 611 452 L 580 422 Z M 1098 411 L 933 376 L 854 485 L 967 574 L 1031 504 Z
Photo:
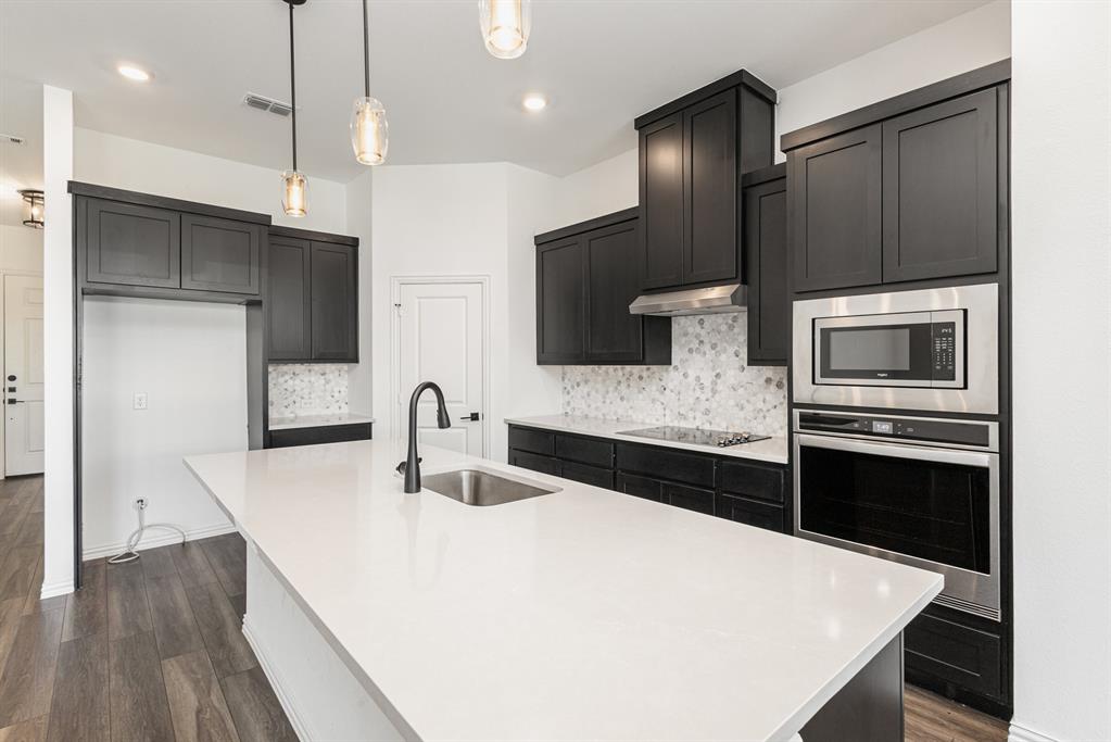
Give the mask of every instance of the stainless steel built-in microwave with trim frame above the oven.
M 999 412 L 994 283 L 794 302 L 794 401 Z

